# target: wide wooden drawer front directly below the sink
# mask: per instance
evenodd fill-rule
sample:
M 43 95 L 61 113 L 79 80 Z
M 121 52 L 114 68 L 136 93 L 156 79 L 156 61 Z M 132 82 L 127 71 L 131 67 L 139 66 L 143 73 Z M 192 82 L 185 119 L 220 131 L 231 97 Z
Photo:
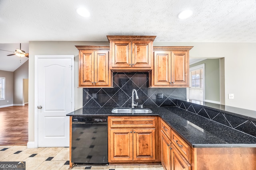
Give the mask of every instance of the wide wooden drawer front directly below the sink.
M 111 128 L 120 128 L 120 127 L 156 127 L 156 118 L 155 117 L 109 117 L 110 127 Z

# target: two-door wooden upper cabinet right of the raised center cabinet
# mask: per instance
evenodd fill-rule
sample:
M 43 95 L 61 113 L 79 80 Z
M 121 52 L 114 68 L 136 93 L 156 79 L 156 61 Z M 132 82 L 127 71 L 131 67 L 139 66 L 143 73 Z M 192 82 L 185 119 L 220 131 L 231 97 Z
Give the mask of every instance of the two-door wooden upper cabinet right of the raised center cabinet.
M 192 47 L 154 47 L 150 87 L 188 87 L 189 50 Z

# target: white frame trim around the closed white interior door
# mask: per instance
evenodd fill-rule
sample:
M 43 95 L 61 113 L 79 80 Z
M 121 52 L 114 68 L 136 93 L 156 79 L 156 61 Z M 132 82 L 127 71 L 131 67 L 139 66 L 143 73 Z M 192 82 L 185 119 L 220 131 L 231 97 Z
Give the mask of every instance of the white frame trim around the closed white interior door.
M 35 55 L 35 93 L 34 93 L 34 148 L 38 148 L 38 59 L 71 58 L 72 59 L 72 111 L 74 111 L 74 55 Z

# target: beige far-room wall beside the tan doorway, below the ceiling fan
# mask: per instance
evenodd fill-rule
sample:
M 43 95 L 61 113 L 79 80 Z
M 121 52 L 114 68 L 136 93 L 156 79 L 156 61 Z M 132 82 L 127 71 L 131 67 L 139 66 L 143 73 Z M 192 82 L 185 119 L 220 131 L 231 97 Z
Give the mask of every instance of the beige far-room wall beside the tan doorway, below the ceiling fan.
M 29 60 L 28 60 L 29 61 Z M 14 71 L 14 106 L 22 106 L 23 102 L 23 79 L 28 78 L 28 61 Z

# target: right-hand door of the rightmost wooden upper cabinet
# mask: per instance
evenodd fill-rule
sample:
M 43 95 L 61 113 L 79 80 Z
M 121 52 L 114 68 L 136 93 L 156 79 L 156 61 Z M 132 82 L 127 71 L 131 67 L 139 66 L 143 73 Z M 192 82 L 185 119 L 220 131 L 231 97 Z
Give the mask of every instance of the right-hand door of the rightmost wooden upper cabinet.
M 172 86 L 189 86 L 188 51 L 172 51 Z

